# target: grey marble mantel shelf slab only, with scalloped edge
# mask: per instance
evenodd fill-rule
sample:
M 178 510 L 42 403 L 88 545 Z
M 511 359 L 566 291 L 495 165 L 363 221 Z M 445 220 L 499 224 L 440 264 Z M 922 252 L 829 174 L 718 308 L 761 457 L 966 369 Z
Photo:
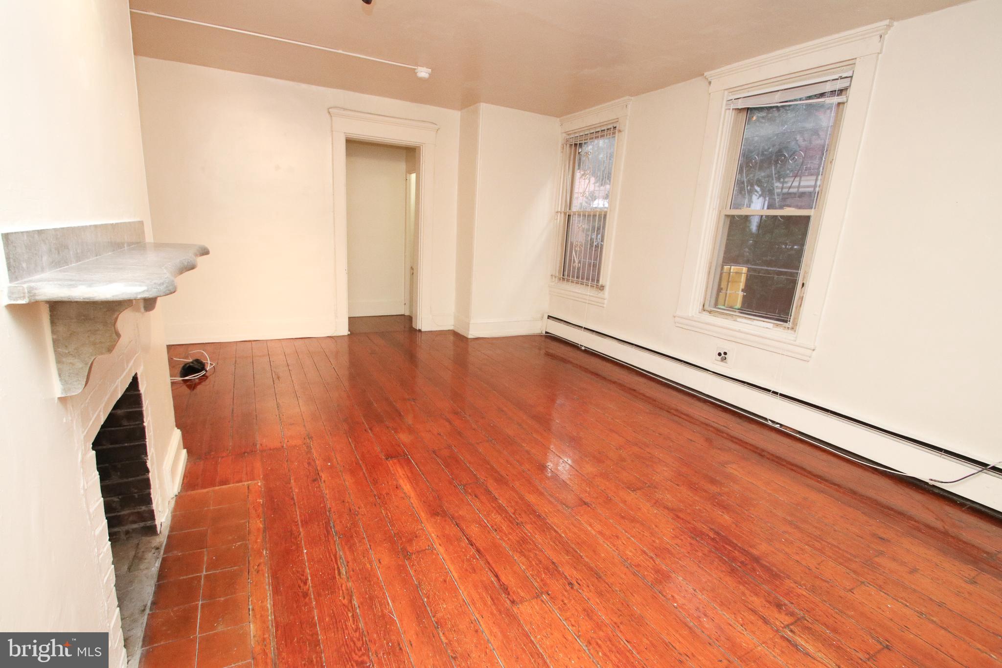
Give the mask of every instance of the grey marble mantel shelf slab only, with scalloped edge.
M 196 243 L 136 243 L 10 283 L 7 302 L 155 299 L 176 291 L 174 277 L 207 254 Z

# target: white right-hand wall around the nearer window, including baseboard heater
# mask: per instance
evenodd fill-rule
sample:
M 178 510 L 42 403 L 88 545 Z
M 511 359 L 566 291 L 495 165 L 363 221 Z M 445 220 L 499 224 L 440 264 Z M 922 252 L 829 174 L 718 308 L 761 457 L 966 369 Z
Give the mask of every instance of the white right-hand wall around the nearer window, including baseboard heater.
M 1002 3 L 979 0 L 891 29 L 817 351 L 805 362 L 731 343 L 727 373 L 981 461 L 1002 460 L 993 424 L 1002 358 L 991 353 L 1002 325 L 994 303 L 1002 225 L 992 214 L 1002 151 L 1002 92 L 993 85 L 999 25 Z M 702 79 L 634 98 L 608 302 L 554 297 L 552 314 L 711 363 L 717 340 L 673 323 L 707 100 Z M 900 442 L 794 416 L 678 365 L 665 363 L 661 373 L 770 417 L 801 420 L 804 431 L 898 468 L 964 471 Z M 981 476 L 948 489 L 1002 508 L 998 483 Z

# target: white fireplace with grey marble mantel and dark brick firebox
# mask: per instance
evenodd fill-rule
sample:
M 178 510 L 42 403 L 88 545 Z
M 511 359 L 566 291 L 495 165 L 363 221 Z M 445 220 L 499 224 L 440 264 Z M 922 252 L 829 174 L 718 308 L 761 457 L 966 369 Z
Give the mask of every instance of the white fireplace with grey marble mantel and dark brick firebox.
M 0 301 L 8 306 L 0 325 L 4 341 L 21 347 L 12 350 L 23 351 L 7 356 L 5 371 L 24 386 L 5 398 L 5 418 L 37 443 L 15 467 L 58 481 L 44 498 L 22 491 L 36 508 L 27 516 L 48 510 L 48 531 L 25 525 L 31 549 L 10 568 L 23 578 L 4 594 L 27 628 L 107 630 L 115 666 L 126 654 L 137 661 L 159 530 L 186 459 L 162 326 L 147 313 L 208 253 L 148 237 L 148 224 L 135 218 L 0 229 Z M 53 373 L 38 373 L 48 364 Z

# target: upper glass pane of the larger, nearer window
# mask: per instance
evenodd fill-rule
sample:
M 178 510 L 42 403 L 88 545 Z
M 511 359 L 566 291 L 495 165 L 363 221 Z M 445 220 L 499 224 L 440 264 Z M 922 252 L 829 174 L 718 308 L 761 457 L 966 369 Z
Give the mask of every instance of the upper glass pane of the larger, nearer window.
M 836 103 L 752 107 L 730 208 L 814 208 Z

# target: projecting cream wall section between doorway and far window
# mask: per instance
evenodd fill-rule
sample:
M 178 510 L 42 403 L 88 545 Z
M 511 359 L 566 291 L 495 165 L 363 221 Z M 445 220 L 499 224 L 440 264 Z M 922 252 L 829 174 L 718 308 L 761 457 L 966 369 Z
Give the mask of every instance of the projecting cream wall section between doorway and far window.
M 539 332 L 546 312 L 559 124 L 477 104 L 462 112 L 457 329 Z M 466 278 L 469 276 L 469 278 Z

